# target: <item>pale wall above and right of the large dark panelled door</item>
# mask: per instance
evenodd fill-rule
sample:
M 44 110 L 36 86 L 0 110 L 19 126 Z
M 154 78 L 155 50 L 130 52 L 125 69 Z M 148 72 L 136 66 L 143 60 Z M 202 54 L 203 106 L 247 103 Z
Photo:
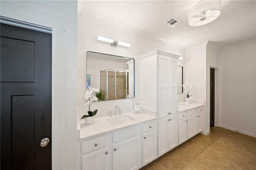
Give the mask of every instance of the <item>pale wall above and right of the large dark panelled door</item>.
M 77 2 L 0 3 L 1 16 L 52 28 L 52 169 L 77 169 Z

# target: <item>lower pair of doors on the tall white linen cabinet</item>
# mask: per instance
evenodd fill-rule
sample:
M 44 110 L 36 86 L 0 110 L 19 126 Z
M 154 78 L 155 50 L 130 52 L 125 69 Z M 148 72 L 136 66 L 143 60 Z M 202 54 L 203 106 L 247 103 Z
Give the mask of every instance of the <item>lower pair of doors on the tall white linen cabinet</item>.
M 178 146 L 178 115 L 158 120 L 158 156 Z

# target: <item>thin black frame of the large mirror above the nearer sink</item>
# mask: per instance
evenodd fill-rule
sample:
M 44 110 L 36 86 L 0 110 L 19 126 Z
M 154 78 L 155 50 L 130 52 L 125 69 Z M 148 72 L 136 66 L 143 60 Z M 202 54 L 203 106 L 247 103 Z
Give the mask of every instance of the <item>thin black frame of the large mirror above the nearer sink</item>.
M 98 53 L 98 52 L 94 52 L 94 51 L 87 51 L 86 52 L 86 89 L 87 89 L 87 70 L 88 70 L 87 53 L 88 52 Z M 98 54 L 114 56 L 114 57 L 122 57 L 122 58 L 133 60 L 133 94 L 132 94 L 132 96 L 130 98 L 134 98 L 134 96 L 135 96 L 135 59 L 134 58 L 130 58 L 130 57 L 123 57 L 123 56 L 118 56 L 118 55 L 105 54 L 105 53 L 98 53 Z M 129 99 L 129 98 L 123 98 L 123 99 Z M 111 99 L 111 100 L 122 100 L 122 99 Z M 98 101 L 98 102 L 103 102 L 103 101 L 110 101 L 110 100 L 101 100 L 101 101 Z

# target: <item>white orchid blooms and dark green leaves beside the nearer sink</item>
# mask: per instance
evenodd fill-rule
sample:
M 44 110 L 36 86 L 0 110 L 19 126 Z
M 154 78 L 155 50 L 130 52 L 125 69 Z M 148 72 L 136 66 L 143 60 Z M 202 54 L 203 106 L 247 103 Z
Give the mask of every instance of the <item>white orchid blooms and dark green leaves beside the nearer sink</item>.
M 83 115 L 81 119 L 84 119 L 86 117 L 92 117 L 92 116 L 96 115 L 98 109 L 96 109 L 94 111 L 90 111 L 90 104 L 91 104 L 91 102 L 98 102 L 98 98 L 93 95 L 93 93 L 97 94 L 98 92 L 100 92 L 100 90 L 98 88 L 90 88 L 89 90 L 87 90 L 85 92 L 84 98 L 87 103 L 84 104 L 84 106 L 88 106 L 89 111 L 88 111 L 88 115 Z

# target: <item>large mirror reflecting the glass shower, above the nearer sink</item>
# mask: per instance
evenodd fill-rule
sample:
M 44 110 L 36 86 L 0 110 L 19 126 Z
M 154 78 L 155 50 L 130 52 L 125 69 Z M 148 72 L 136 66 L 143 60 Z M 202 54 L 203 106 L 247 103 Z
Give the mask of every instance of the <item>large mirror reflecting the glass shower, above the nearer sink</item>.
M 87 51 L 86 63 L 86 89 L 100 89 L 99 101 L 134 97 L 134 59 Z

